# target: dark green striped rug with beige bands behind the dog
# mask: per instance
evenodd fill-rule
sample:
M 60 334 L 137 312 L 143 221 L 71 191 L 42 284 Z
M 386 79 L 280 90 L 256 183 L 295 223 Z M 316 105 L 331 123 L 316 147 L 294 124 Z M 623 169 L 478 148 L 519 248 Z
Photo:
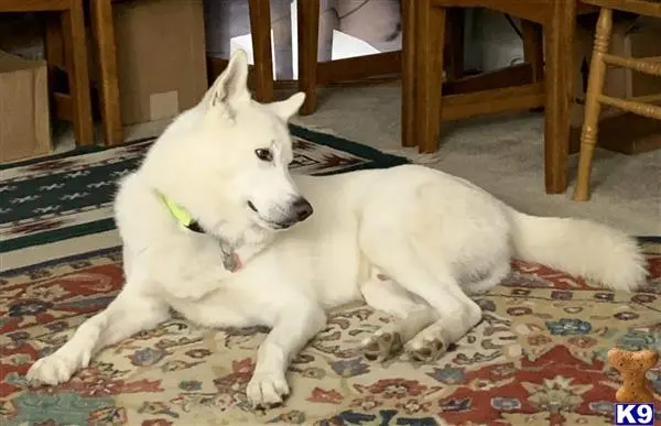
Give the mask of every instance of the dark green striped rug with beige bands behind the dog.
M 297 125 L 290 130 L 296 153 L 293 167 L 303 173 L 330 175 L 409 162 Z M 0 166 L 0 253 L 115 229 L 115 182 L 138 166 L 152 140 L 79 148 Z

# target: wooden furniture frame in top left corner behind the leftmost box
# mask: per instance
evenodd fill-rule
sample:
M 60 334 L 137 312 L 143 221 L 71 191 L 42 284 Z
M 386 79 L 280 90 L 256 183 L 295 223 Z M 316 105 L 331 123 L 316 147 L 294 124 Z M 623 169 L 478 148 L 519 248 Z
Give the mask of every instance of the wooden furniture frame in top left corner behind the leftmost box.
M 68 94 L 53 92 L 54 116 L 73 122 L 78 145 L 93 144 L 83 0 L 2 0 L 0 12 L 58 13 L 58 19 L 48 19 L 46 23 L 45 59 L 50 69 L 64 65 Z

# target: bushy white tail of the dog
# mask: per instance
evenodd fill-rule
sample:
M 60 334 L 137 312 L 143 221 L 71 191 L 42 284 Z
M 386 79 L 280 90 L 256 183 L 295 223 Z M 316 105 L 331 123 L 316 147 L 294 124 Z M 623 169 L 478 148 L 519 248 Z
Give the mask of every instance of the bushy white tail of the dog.
M 632 291 L 646 282 L 636 239 L 584 219 L 535 217 L 510 208 L 516 256 L 582 276 L 605 287 Z

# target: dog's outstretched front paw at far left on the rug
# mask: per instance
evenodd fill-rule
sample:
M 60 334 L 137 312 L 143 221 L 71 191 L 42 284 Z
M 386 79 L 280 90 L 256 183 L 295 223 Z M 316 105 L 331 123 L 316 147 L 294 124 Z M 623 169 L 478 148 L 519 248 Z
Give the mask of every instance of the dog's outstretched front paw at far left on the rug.
M 77 370 L 89 364 L 89 351 L 80 351 L 74 357 L 59 352 L 61 350 L 36 360 L 28 370 L 28 381 L 32 384 L 57 385 L 68 381 Z

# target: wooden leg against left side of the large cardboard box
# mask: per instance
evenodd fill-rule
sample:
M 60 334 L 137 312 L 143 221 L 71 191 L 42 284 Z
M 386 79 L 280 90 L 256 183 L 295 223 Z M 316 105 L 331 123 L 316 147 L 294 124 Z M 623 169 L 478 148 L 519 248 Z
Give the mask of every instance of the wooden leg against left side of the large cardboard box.
M 118 145 L 123 142 L 119 86 L 117 77 L 117 50 L 111 0 L 91 0 L 91 28 L 96 41 L 99 69 L 99 95 L 104 143 Z

